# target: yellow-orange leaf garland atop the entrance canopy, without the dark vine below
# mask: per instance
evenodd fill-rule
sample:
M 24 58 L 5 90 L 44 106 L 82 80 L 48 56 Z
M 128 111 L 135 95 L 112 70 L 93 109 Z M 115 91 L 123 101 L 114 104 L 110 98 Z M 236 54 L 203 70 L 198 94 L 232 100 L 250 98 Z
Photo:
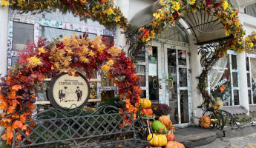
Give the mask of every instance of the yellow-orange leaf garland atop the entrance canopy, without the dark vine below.
M 234 49 L 243 52 L 243 36 L 245 30 L 238 20 L 238 10 L 226 0 L 160 0 L 161 8 L 154 13 L 154 19 L 150 24 L 138 30 L 140 40 L 137 45 L 146 44 L 155 35 L 160 34 L 165 28 L 174 26 L 189 11 L 203 9 L 210 16 L 215 16 L 224 25 L 226 36 L 230 38 L 220 47 L 220 56 L 227 50 Z M 136 44 L 136 43 L 135 43 Z

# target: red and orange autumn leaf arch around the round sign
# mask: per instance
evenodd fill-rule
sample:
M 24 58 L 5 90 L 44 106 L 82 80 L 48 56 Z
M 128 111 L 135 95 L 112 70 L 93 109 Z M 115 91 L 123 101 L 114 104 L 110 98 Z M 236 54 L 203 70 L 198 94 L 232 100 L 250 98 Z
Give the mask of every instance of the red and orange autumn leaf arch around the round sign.
M 141 90 L 134 63 L 123 50 L 107 46 L 103 41 L 105 39 L 99 36 L 91 41 L 77 34 L 54 42 L 40 38 L 37 44 L 29 44 L 20 53 L 15 67 L 1 78 L 0 83 L 0 108 L 3 110 L 0 124 L 5 128 L 2 138 L 7 144 L 12 142 L 14 129 L 30 134 L 24 122 L 32 120 L 30 115 L 35 109 L 36 93 L 46 89 L 45 78 L 54 78 L 63 72 L 76 76 L 79 70 L 92 78 L 93 70 L 105 71 L 118 87 L 125 104 L 122 111 L 134 112 L 136 118 Z M 17 139 L 22 140 L 22 135 Z

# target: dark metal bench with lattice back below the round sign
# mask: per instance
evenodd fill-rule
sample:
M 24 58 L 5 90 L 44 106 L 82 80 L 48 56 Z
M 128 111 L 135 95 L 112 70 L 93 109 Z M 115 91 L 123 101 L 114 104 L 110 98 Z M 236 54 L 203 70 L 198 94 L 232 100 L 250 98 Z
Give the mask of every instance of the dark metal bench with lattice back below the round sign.
M 35 120 L 26 121 L 29 135 L 20 129 L 13 131 L 13 147 L 150 146 L 148 141 L 137 138 L 139 131 L 135 122 L 141 120 L 134 121 L 131 112 L 113 112 L 109 108 L 99 107 L 96 111 L 76 109 L 76 112 L 44 110 L 33 117 Z M 22 134 L 23 141 L 16 139 L 19 134 Z

